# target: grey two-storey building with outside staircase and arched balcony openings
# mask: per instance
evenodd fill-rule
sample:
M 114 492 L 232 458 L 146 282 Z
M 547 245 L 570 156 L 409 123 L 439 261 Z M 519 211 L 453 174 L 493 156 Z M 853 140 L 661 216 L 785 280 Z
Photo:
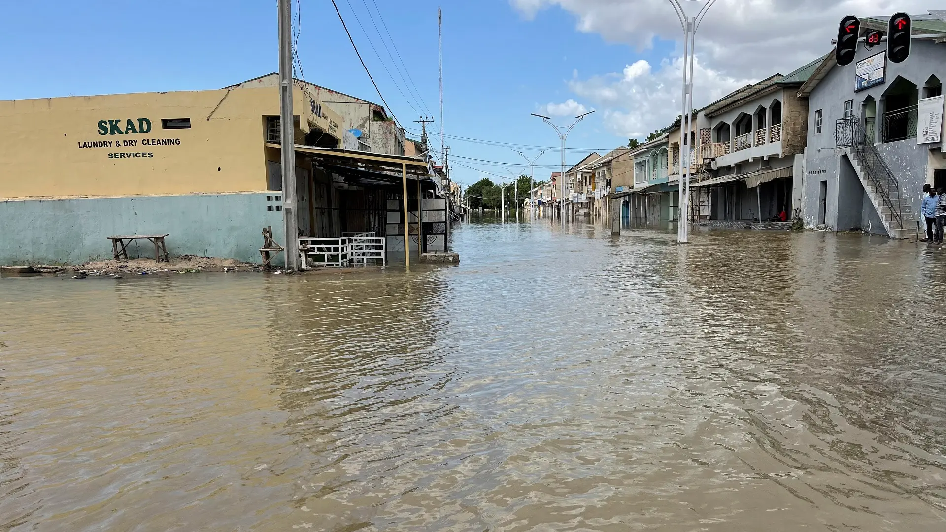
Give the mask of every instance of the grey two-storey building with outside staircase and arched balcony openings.
M 862 31 L 886 27 L 886 18 L 861 19 Z M 946 23 L 916 15 L 913 33 L 905 62 L 887 61 L 883 45 L 861 44 L 854 62 L 839 66 L 829 54 L 800 87 L 810 110 L 800 202 L 806 227 L 912 239 L 922 186 L 946 186 Z

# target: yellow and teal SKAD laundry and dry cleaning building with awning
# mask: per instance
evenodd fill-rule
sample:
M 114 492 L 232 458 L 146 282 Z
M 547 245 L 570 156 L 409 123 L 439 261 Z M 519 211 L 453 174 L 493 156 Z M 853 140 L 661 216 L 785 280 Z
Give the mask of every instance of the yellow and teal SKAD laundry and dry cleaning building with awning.
M 300 235 L 374 231 L 403 250 L 406 168 L 412 239 L 422 198 L 430 250 L 445 248 L 428 163 L 343 150 L 344 118 L 312 94 L 293 91 Z M 0 118 L 2 264 L 111 257 L 115 235 L 170 234 L 171 255 L 254 262 L 263 227 L 285 241 L 275 85 L 0 101 Z

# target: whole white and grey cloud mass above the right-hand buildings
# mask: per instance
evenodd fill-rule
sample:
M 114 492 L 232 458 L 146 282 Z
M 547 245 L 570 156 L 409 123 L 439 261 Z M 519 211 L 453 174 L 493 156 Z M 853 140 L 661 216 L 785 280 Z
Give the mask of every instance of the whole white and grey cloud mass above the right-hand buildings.
M 667 0 L 509 1 L 528 19 L 541 9 L 564 9 L 576 17 L 578 30 L 638 50 L 655 39 L 675 42 L 673 58 L 634 62 L 621 73 L 587 80 L 575 72 L 569 89 L 598 106 L 605 127 L 621 136 L 645 136 L 681 114 L 682 29 Z M 705 1 L 682 4 L 692 16 Z M 693 105 L 701 107 L 776 73 L 788 74 L 828 53 L 845 15 L 925 13 L 929 8 L 931 0 L 717 0 L 696 36 Z M 572 99 L 558 105 L 564 110 L 569 102 L 578 105 Z

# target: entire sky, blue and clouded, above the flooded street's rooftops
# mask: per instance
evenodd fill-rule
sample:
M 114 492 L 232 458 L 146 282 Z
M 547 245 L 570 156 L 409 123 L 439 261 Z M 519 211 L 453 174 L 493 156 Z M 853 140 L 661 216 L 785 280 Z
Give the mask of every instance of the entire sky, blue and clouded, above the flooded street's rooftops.
M 688 14 L 709 0 L 680 0 Z M 841 18 L 925 13 L 941 0 L 717 0 L 699 28 L 694 104 L 788 74 L 832 50 Z M 431 144 L 447 135 L 454 180 L 604 154 L 681 114 L 682 29 L 670 0 L 293 0 L 297 77 L 383 104 Z M 437 9 L 444 12 L 440 115 Z M 16 2 L 0 18 L 0 99 L 218 89 L 278 70 L 275 0 Z M 15 73 L 15 74 L 14 74 Z M 382 101 L 383 98 L 383 101 Z M 545 151 L 544 154 L 540 154 Z M 438 157 L 440 155 L 438 154 Z

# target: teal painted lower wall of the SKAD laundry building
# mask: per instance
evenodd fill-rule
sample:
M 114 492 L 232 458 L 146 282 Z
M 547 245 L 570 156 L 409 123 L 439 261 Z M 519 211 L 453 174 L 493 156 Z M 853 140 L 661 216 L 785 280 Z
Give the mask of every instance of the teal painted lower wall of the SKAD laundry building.
M 81 264 L 112 257 L 115 235 L 169 233 L 171 257 L 260 262 L 264 226 L 282 242 L 283 213 L 266 193 L 0 202 L 0 264 Z M 267 210 L 272 205 L 273 210 Z M 131 257 L 153 257 L 148 240 Z M 277 259 L 282 264 L 282 259 Z

